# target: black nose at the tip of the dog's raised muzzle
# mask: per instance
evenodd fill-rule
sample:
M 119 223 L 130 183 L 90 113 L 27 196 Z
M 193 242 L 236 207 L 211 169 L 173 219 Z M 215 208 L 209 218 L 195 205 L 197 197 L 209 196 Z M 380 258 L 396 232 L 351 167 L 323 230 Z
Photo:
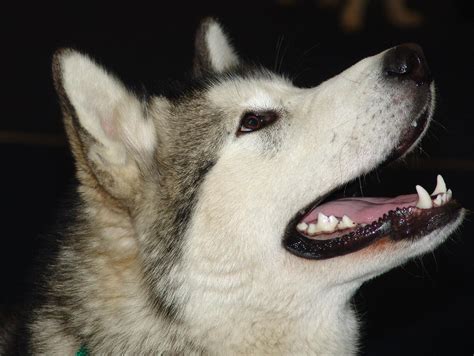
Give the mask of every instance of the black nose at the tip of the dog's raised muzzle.
M 429 84 L 431 72 L 420 46 L 405 43 L 390 49 L 384 57 L 384 73 L 388 77 L 411 80 L 417 85 Z

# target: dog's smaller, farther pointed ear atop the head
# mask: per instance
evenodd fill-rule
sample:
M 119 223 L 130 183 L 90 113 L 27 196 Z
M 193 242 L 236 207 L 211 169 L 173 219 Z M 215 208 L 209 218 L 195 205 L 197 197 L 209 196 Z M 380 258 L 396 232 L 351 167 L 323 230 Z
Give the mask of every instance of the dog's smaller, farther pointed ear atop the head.
M 239 58 L 222 26 L 214 19 L 202 21 L 196 34 L 194 75 L 221 73 L 239 65 Z

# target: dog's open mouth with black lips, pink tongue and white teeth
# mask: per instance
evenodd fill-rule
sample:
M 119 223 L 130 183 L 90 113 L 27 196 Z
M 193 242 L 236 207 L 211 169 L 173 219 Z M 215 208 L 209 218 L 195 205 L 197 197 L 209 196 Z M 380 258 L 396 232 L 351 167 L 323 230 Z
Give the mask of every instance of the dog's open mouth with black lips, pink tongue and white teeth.
M 416 146 L 430 115 L 431 106 L 426 105 L 402 133 L 404 140 L 379 166 Z M 417 185 L 417 194 L 393 198 L 347 197 L 351 190 L 359 188 L 359 181 L 356 178 L 302 209 L 287 227 L 284 247 L 299 257 L 328 259 L 361 250 L 382 238 L 391 241 L 421 238 L 454 221 L 461 211 L 441 175 L 431 194 Z

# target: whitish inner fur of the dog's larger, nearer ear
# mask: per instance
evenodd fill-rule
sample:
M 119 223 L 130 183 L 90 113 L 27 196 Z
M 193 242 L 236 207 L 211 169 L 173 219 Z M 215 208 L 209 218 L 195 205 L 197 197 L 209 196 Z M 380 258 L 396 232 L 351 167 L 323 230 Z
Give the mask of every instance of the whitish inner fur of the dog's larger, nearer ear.
M 63 55 L 61 68 L 66 94 L 83 128 L 100 143 L 93 150 L 102 158 L 124 164 L 127 149 L 154 149 L 153 122 L 143 117 L 139 100 L 122 83 L 78 52 Z

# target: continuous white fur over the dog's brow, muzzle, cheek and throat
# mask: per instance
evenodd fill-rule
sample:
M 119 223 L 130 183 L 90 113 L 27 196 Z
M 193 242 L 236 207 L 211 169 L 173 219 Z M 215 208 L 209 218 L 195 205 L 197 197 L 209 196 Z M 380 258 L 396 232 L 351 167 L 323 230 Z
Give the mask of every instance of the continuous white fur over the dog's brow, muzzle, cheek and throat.
M 182 295 L 190 296 L 191 332 L 212 352 L 354 354 L 356 289 L 431 250 L 462 219 L 414 243 L 369 246 L 323 261 L 282 247 L 300 208 L 374 168 L 411 122 L 413 102 L 380 75 L 382 58 L 367 58 L 313 89 L 275 77 L 233 79 L 208 92 L 232 130 L 247 110 L 286 113 L 276 153 L 266 154 L 258 132 L 230 137 L 201 188 L 186 239 Z

